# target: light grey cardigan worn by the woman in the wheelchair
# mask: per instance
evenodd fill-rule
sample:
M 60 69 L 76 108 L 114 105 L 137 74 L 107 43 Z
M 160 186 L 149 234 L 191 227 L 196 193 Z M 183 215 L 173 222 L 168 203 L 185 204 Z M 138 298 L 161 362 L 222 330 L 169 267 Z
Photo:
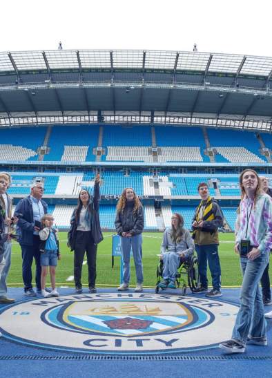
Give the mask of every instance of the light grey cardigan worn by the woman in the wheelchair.
M 175 243 L 173 241 L 173 239 L 171 238 L 171 232 L 171 227 L 167 228 L 164 231 L 161 253 L 165 254 L 168 252 L 177 252 L 178 254 L 183 253 L 186 258 L 191 256 L 195 249 L 195 244 L 193 243 L 193 238 L 188 229 L 184 229 L 182 240 L 180 240 L 179 243 Z

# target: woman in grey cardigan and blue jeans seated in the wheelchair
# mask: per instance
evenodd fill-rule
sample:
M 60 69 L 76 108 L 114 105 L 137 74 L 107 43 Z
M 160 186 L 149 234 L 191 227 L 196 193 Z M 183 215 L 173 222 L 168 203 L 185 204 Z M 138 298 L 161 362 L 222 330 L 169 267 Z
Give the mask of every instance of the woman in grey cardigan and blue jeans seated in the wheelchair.
M 175 277 L 180 263 L 189 261 L 195 249 L 193 238 L 188 229 L 184 229 L 184 219 L 180 214 L 173 214 L 172 226 L 164 231 L 161 258 L 164 263 L 163 281 L 159 287 L 175 289 Z

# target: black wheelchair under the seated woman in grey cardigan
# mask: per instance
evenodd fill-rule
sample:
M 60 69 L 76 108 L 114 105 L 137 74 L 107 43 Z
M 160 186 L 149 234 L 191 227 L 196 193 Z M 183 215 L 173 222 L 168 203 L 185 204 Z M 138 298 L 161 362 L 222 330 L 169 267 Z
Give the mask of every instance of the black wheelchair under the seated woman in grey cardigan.
M 166 288 L 159 287 L 159 283 L 162 279 L 162 272 L 164 270 L 164 261 L 159 260 L 157 265 L 157 283 L 155 286 L 155 293 L 159 293 L 159 290 L 166 290 Z M 176 288 L 181 287 L 182 294 L 186 294 L 186 290 L 190 287 L 193 293 L 195 289 L 200 284 L 200 275 L 198 271 L 198 259 L 197 256 L 191 256 L 186 261 L 180 261 L 179 267 L 177 268 L 177 274 L 175 276 Z

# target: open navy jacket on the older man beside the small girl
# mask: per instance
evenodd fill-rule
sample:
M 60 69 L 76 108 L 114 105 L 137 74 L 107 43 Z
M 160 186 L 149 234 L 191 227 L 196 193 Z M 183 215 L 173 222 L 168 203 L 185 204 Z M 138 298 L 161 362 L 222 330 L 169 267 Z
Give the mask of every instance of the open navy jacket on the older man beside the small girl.
M 44 214 L 47 214 L 47 203 L 41 200 Z M 30 196 L 19 200 L 14 211 L 14 216 L 19 218 L 17 223 L 17 235 L 21 245 L 33 245 L 34 220 Z

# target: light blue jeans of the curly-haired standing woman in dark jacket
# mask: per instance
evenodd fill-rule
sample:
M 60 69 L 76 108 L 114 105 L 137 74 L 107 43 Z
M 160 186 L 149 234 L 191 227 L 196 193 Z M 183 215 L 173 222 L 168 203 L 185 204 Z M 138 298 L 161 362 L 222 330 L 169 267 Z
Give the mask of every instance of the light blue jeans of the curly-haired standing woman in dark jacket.
M 143 265 L 142 265 L 142 234 L 124 238 L 121 236 L 121 249 L 123 257 L 123 283 L 128 284 L 130 281 L 130 247 L 133 249 L 133 259 L 136 270 L 137 283 L 143 283 Z

